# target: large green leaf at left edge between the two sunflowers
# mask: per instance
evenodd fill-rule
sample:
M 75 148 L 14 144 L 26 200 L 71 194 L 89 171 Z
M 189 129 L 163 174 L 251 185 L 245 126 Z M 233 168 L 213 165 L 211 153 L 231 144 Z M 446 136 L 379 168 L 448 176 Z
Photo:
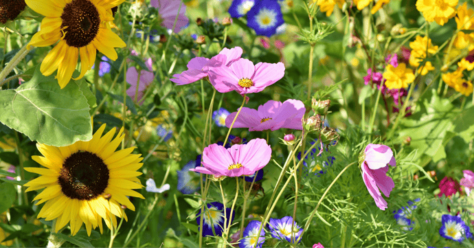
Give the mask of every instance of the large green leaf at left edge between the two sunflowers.
M 89 105 L 78 85 L 60 89 L 39 67 L 30 81 L 0 91 L 0 113 L 0 122 L 42 144 L 68 146 L 92 138 Z

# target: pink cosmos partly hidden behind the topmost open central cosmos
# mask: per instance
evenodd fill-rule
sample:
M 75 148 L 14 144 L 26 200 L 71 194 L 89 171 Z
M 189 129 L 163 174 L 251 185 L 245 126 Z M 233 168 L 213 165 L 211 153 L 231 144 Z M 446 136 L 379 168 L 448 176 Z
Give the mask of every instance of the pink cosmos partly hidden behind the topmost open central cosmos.
M 225 47 L 218 55 L 211 59 L 204 57 L 192 58 L 187 65 L 188 70 L 183 71 L 181 74 L 174 74 L 174 78 L 170 80 L 178 85 L 196 82 L 197 80 L 207 77 L 207 73 L 212 67 L 228 67 L 232 65 L 232 63 L 240 59 L 242 52 L 241 47 L 234 47 L 232 49 Z

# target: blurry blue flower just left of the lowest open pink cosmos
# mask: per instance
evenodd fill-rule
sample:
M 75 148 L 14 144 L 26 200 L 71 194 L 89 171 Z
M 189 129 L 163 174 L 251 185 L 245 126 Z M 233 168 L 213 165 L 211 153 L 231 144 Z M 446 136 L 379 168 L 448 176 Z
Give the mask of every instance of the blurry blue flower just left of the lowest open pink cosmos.
M 190 171 L 197 166 L 201 166 L 201 155 L 196 160 L 189 161 L 183 166 L 183 169 L 178 170 L 178 190 L 183 194 L 193 194 L 201 188 L 199 183 L 199 173 Z

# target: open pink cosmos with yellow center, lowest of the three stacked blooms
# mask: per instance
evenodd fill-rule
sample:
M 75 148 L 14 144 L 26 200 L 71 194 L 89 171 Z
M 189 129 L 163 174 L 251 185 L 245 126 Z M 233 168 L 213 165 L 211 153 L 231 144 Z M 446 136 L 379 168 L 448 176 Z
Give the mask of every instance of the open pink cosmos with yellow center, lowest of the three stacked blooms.
M 224 148 L 212 144 L 204 148 L 203 160 L 194 172 L 213 174 L 216 177 L 240 177 L 251 175 L 264 168 L 271 158 L 271 148 L 265 139 L 252 139 L 247 144 Z

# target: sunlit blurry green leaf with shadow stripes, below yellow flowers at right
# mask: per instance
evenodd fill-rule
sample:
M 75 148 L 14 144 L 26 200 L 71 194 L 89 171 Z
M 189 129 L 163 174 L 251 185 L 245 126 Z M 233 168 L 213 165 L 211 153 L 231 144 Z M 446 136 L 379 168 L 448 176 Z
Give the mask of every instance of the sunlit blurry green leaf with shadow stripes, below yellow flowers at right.
M 444 146 L 453 137 L 453 120 L 459 112 L 446 98 L 440 98 L 436 90 L 426 93 L 425 97 L 418 100 L 414 115 L 405 117 L 403 129 L 399 133 L 400 139 L 411 137 L 411 148 L 418 149 L 414 160 L 423 154 L 428 155 L 433 161 L 439 161 L 446 157 Z

